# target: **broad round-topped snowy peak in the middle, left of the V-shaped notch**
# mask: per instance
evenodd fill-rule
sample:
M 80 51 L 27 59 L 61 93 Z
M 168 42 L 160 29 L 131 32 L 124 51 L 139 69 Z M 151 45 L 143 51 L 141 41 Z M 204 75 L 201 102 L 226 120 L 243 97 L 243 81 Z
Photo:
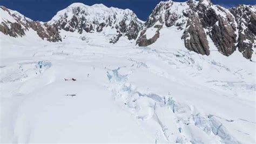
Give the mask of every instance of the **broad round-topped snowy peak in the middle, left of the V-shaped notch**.
M 142 22 L 129 9 L 107 8 L 103 4 L 92 6 L 83 3 L 73 3 L 54 16 L 49 24 L 65 31 L 102 32 L 104 28 L 117 31 L 110 43 L 116 43 L 122 36 L 129 40 L 136 39 L 142 29 Z

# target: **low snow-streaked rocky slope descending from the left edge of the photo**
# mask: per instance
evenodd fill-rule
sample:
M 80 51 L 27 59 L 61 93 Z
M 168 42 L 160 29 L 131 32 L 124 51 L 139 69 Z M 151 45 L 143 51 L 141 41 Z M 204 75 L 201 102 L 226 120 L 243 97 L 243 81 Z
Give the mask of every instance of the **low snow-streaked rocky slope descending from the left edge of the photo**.
M 33 21 L 26 18 L 21 13 L 0 6 L 0 31 L 11 37 L 22 37 L 26 35 L 26 31 L 30 29 L 36 31 L 37 35 L 42 39 L 50 42 L 61 41 L 58 30 L 51 25 Z

